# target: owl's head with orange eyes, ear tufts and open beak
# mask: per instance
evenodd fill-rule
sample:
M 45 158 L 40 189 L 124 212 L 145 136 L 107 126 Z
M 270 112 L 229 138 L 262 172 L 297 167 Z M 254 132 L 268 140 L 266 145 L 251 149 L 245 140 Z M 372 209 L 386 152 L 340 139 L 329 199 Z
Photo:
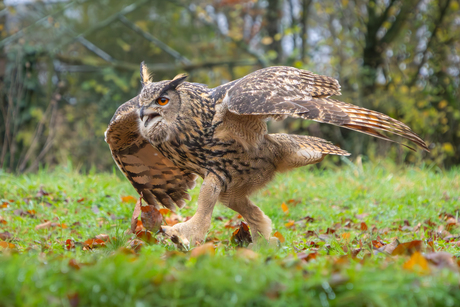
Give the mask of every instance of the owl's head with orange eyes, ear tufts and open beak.
M 139 132 L 153 145 L 165 142 L 173 133 L 181 108 L 176 87 L 187 78 L 177 75 L 173 80 L 153 82 L 144 62 L 141 63 L 142 91 L 139 94 Z

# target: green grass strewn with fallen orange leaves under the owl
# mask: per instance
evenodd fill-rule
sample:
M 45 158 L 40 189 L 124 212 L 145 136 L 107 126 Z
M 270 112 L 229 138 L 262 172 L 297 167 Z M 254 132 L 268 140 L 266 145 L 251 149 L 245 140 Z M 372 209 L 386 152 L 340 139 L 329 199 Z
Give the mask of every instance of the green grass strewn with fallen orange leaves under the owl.
M 36 197 L 40 187 L 50 194 Z M 436 251 L 460 256 L 456 244 L 442 239 L 448 233 L 441 229 L 446 226 L 442 213 L 458 218 L 459 169 L 350 162 L 279 175 L 252 199 L 286 242 L 278 250 L 256 251 L 255 259 L 229 242 L 234 229 L 224 225 L 237 215 L 221 205 L 213 216 L 223 220 L 213 219 L 208 235 L 218 238 L 214 256 L 191 257 L 161 240 L 144 245 L 139 253 L 130 252 L 126 246 L 131 236 L 125 231 L 134 204 L 120 199 L 127 195 L 137 197 L 117 173 L 81 175 L 64 167 L 22 176 L 0 173 L 0 206 L 5 204 L 0 216 L 6 222 L 0 223 L 0 233 L 11 233 L 7 241 L 14 244 L 11 249 L 0 247 L 0 306 L 460 304 L 457 269 L 404 269 L 409 256 L 390 256 L 370 247 L 372 240 L 386 244 L 398 238 L 421 239 L 426 248 L 434 236 Z M 192 195 L 179 215 L 193 215 L 198 188 Z M 287 213 L 281 209 L 283 202 Z M 34 216 L 25 213 L 28 210 Z M 286 227 L 306 216 L 314 221 Z M 434 224 L 427 224 L 428 219 Z M 401 228 L 405 220 L 412 228 L 421 223 L 420 230 Z M 45 221 L 65 225 L 35 229 Z M 367 231 L 359 229 L 361 222 Z M 449 234 L 460 234 L 456 224 L 451 227 Z M 337 236 L 324 235 L 327 228 L 336 229 Z M 321 236 L 306 238 L 308 230 Z M 102 233 L 112 238 L 106 247 L 84 250 L 78 243 Z M 66 250 L 67 239 L 77 242 L 75 249 Z M 360 241 L 357 258 L 344 256 L 345 246 L 351 250 Z M 314 249 L 311 242 L 319 247 Z M 318 256 L 311 261 L 297 257 L 298 252 L 314 251 Z M 69 265 L 71 259 L 79 268 Z

